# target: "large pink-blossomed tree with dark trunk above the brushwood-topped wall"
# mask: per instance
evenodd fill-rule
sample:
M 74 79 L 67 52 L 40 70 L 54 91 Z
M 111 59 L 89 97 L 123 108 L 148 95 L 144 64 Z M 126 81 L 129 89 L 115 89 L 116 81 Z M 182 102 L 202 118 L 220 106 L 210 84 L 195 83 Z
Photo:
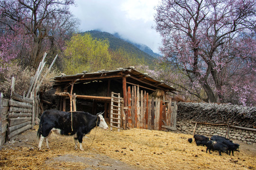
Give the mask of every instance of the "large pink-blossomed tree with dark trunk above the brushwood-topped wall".
M 234 102 L 230 99 L 238 89 L 244 104 L 255 88 L 256 2 L 162 0 L 156 9 L 155 28 L 163 37 L 166 61 L 192 86 L 203 88 L 204 100 Z

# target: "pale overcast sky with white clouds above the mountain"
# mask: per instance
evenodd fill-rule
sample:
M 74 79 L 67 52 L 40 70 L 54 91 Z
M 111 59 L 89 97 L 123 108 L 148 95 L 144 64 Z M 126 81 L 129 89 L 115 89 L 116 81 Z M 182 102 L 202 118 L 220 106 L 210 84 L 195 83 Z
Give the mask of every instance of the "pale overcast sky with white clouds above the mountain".
M 71 7 L 71 11 L 80 19 L 80 31 L 118 33 L 159 53 L 161 37 L 152 29 L 154 7 L 159 0 L 76 0 L 76 3 L 77 7 Z

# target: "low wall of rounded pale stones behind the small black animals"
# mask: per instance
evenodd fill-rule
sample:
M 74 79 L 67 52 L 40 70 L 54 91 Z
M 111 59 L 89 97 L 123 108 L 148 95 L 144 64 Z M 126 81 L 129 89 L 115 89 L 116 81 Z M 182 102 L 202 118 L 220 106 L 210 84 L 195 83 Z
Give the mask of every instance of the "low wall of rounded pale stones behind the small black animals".
M 194 125 L 191 120 L 189 121 L 177 121 L 177 130 L 184 134 L 193 135 Z M 195 133 L 198 135 L 208 136 L 213 135 L 226 137 L 228 126 L 220 125 L 207 125 L 197 123 Z M 243 130 L 230 127 L 229 136 L 230 140 L 238 140 L 244 144 L 256 144 L 256 132 L 251 130 Z

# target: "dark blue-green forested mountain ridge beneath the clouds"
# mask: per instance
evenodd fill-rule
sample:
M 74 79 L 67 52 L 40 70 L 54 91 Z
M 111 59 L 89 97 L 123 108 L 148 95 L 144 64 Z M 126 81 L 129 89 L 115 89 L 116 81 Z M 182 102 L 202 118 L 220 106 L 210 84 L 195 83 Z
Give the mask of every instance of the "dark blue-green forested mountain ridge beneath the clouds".
M 135 54 L 136 56 L 138 56 L 141 59 L 144 59 L 146 61 L 146 63 L 148 63 L 149 65 L 152 65 L 153 60 L 155 59 L 153 56 L 147 54 L 144 51 L 141 51 L 138 47 L 136 47 L 132 43 L 124 41 L 123 39 L 118 38 L 118 37 L 114 36 L 113 34 L 106 33 L 106 32 L 100 32 L 100 31 L 96 31 L 96 30 L 87 31 L 85 33 L 89 33 L 89 34 L 91 34 L 92 37 L 97 38 L 97 39 L 102 39 L 102 40 L 106 39 L 109 41 L 109 48 L 112 49 L 113 51 L 122 48 L 125 51 Z

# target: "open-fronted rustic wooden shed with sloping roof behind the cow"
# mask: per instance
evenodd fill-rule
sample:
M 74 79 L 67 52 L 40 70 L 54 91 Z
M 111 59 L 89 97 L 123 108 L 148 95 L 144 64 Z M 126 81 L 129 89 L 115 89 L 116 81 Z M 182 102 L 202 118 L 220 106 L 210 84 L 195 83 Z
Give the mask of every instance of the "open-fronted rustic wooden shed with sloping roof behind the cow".
M 170 102 L 165 100 L 165 94 L 176 91 L 175 88 L 155 80 L 147 73 L 141 73 L 133 67 L 101 70 L 94 73 L 83 71 L 76 75 L 56 76 L 53 78 L 53 82 L 53 87 L 56 88 L 55 95 L 60 99 L 57 109 L 88 111 L 92 114 L 105 111 L 106 121 L 110 122 L 113 127 L 123 127 L 124 129 L 143 126 L 143 122 L 141 124 L 138 121 L 140 122 L 146 117 L 149 119 L 146 114 L 150 114 L 151 117 L 146 101 L 152 103 L 153 98 L 154 104 L 158 104 L 159 100 L 159 102 L 162 101 L 161 105 L 164 105 L 166 102 Z M 161 99 L 149 97 L 157 91 L 161 91 Z M 144 109 L 141 110 L 141 108 Z M 166 111 L 168 110 L 165 109 Z M 144 123 L 148 124 L 148 122 Z M 146 128 L 145 125 L 144 128 Z

